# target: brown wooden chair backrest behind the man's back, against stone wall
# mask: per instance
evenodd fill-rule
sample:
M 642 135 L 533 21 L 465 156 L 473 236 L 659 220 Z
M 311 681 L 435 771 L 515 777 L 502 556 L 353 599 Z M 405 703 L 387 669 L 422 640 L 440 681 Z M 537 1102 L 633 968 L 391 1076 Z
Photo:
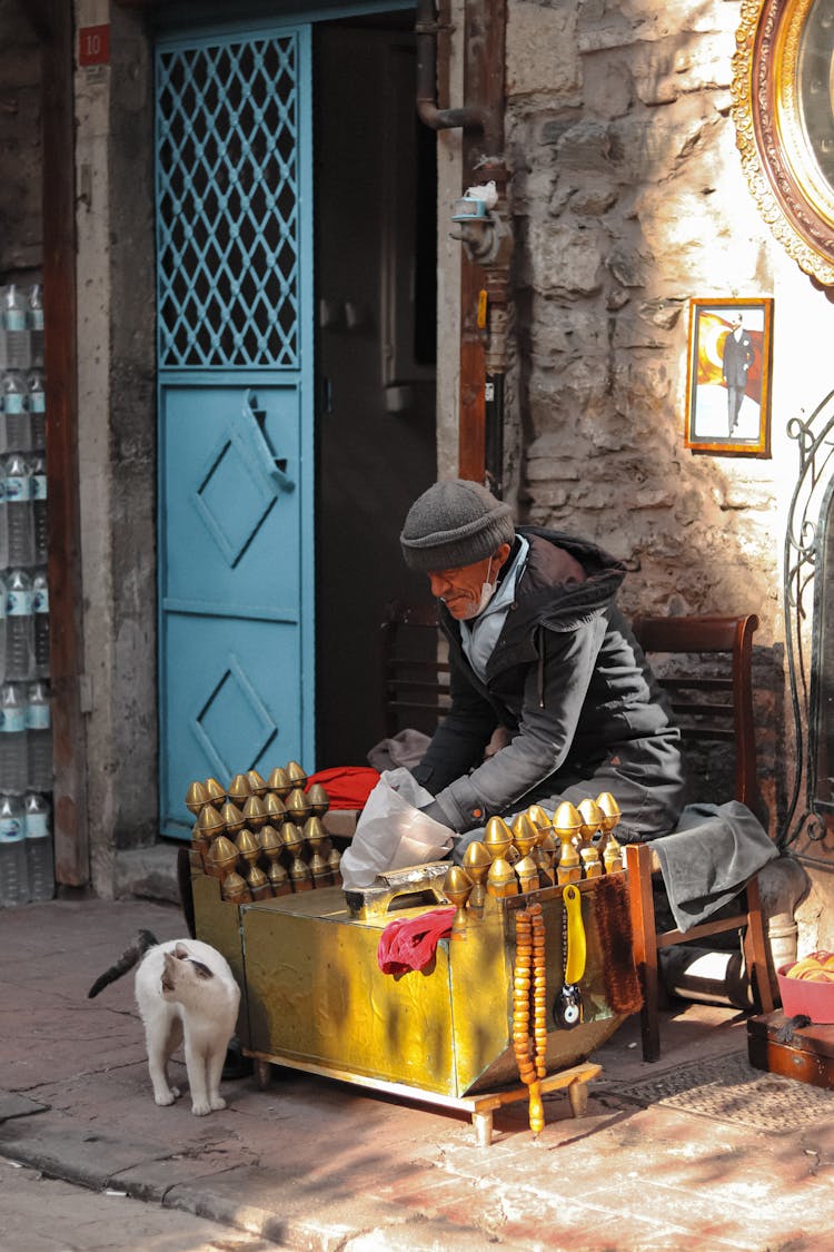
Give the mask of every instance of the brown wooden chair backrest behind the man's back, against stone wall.
M 758 626 L 755 613 L 638 617 L 633 622 L 638 642 L 669 696 L 681 737 L 686 742 L 731 742 L 735 799 L 754 810 L 759 789 L 751 656 Z M 711 664 L 713 659 L 718 664 Z

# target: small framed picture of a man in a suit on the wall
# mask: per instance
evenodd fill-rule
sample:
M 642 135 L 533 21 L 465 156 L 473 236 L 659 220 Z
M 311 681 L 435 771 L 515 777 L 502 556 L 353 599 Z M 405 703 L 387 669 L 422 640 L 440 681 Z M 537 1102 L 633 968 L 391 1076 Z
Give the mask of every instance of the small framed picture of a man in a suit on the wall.
M 770 456 L 771 354 L 771 298 L 689 302 L 685 447 Z

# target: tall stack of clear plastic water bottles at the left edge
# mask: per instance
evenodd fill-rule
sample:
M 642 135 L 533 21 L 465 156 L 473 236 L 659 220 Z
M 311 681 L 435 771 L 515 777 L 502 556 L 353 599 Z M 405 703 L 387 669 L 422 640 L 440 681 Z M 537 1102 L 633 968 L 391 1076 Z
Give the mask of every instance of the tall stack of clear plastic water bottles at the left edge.
M 39 284 L 0 287 L 0 906 L 54 894 Z

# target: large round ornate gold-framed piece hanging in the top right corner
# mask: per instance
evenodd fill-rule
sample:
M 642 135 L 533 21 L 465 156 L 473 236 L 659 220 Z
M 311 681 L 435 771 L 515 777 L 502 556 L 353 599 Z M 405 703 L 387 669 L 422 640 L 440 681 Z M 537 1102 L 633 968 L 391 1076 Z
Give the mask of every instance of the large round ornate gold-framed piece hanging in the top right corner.
M 759 212 L 823 287 L 834 285 L 830 16 L 830 0 L 743 0 L 731 85 L 735 139 Z

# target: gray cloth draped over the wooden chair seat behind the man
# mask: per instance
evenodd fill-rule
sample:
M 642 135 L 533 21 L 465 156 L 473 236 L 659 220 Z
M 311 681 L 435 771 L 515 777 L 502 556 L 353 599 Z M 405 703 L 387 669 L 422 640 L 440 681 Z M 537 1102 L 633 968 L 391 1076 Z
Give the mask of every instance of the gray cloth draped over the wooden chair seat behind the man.
M 675 830 L 649 844 L 658 854 L 675 924 L 689 930 L 739 894 L 779 849 L 746 805 L 689 804 Z

